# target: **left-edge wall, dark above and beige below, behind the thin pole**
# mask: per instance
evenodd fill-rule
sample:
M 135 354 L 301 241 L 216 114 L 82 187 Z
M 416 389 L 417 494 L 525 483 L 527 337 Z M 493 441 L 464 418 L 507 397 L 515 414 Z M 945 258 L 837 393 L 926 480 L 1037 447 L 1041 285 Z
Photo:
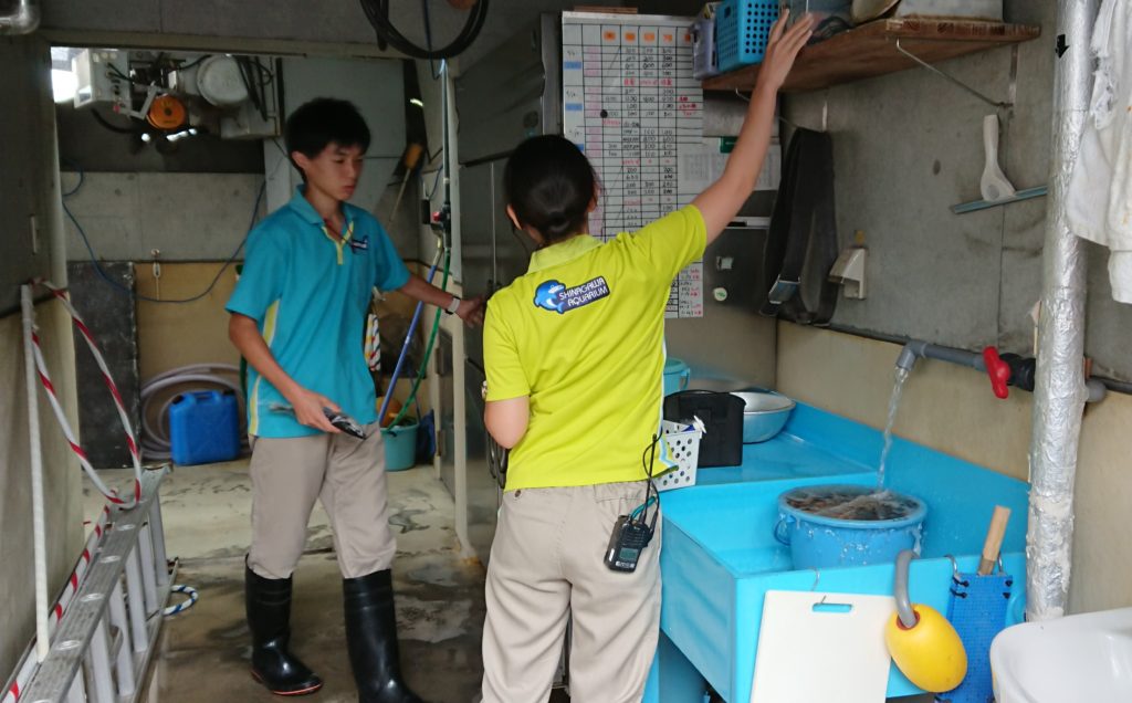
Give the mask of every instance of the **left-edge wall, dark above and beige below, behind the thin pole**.
M 48 45 L 35 37 L 0 37 L 0 66 L 7 113 L 0 120 L 6 155 L 0 166 L 0 241 L 6 272 L 12 274 L 3 280 L 0 293 L 9 301 L 17 299 L 15 281 L 48 273 L 65 284 L 66 268 Z M 16 181 L 19 187 L 9 188 Z M 38 251 L 33 250 L 27 235 L 28 213 L 38 213 Z M 72 427 L 77 427 L 70 318 L 55 302 L 40 303 L 36 312 L 52 380 Z M 0 563 L 5 565 L 0 569 L 0 678 L 6 678 L 35 631 L 27 394 L 18 312 L 0 317 Z M 42 393 L 38 414 L 49 592 L 54 597 L 83 547 L 82 488 L 78 465 Z

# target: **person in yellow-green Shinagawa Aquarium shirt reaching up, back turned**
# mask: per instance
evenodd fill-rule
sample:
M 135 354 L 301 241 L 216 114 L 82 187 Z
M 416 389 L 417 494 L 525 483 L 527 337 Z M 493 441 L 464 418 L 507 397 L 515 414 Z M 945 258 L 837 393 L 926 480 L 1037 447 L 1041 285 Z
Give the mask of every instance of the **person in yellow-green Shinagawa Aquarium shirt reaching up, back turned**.
M 649 456 L 661 419 L 672 278 L 754 190 L 774 102 L 811 34 L 771 29 L 735 149 L 691 205 L 608 243 L 590 237 L 593 170 L 557 136 L 524 142 L 507 214 L 539 249 L 496 293 L 483 333 L 488 431 L 511 449 L 487 581 L 483 703 L 542 703 L 567 618 L 574 703 L 640 701 L 660 623 L 659 506 Z

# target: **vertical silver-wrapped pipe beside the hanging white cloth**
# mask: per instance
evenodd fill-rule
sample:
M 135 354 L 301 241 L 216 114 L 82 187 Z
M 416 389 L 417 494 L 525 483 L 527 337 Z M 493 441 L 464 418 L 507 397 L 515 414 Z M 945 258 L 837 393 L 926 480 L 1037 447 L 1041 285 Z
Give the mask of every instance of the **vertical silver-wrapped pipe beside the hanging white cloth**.
M 1026 535 L 1027 618 L 1065 614 L 1073 547 L 1073 481 L 1087 396 L 1083 242 L 1069 230 L 1065 195 L 1089 105 L 1089 35 L 1097 0 L 1057 3 L 1060 55 L 1054 74 L 1053 162 L 1046 205 L 1041 319 L 1030 440 L 1030 507 Z M 1064 48 L 1064 49 L 1062 49 Z

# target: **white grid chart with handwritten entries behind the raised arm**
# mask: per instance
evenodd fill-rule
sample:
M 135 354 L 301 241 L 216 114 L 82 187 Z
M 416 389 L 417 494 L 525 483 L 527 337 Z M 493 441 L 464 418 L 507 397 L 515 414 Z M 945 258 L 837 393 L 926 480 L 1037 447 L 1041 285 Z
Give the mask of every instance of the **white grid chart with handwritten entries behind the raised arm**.
M 563 130 L 601 197 L 590 233 L 608 241 L 687 205 L 710 182 L 692 18 L 563 12 Z M 703 262 L 672 282 L 666 317 L 703 317 Z

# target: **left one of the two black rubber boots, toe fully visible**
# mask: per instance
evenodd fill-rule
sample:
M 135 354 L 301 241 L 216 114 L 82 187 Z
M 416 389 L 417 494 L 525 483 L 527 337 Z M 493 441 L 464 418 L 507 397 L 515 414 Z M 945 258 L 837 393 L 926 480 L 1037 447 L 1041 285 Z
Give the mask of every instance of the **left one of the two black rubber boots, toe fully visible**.
M 243 568 L 251 676 L 276 695 L 315 693 L 323 687 L 323 679 L 286 649 L 291 640 L 291 580 L 264 578 L 247 565 Z

